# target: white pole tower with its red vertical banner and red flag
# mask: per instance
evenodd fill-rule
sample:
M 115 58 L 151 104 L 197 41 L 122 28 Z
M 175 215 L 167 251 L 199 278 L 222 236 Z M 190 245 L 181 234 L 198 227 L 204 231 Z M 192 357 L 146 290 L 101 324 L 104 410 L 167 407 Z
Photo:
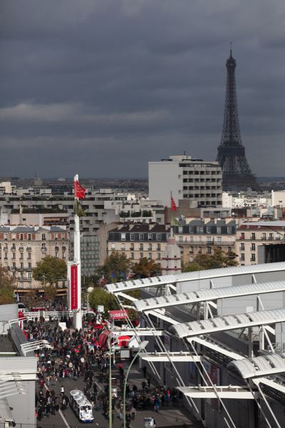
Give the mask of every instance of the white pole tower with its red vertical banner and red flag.
M 79 199 L 86 197 L 86 189 L 78 182 L 78 174 L 74 177 L 74 256 L 68 262 L 68 309 L 73 311 L 73 325 L 82 328 L 81 310 L 81 242 L 79 226 Z

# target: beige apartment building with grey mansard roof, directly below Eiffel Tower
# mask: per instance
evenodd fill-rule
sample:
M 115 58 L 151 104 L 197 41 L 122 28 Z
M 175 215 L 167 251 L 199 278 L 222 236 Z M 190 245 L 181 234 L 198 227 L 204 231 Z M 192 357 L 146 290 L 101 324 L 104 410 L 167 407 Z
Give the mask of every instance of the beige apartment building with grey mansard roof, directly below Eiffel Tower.
M 182 263 L 193 262 L 199 254 L 211 254 L 214 248 L 225 253 L 235 252 L 236 223 L 225 220 L 190 220 L 188 224 L 174 226 Z

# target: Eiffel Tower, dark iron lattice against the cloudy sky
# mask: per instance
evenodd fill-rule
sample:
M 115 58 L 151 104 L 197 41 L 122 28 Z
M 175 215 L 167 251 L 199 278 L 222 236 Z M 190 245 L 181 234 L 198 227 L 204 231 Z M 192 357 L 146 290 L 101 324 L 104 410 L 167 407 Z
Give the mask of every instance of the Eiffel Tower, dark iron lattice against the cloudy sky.
M 221 143 L 218 147 L 217 161 L 222 168 L 223 190 L 258 190 L 257 178 L 252 173 L 245 156 L 239 131 L 237 112 L 237 90 L 234 70 L 236 60 L 232 57 L 232 44 L 227 59 L 227 88 L 224 103 L 224 123 Z

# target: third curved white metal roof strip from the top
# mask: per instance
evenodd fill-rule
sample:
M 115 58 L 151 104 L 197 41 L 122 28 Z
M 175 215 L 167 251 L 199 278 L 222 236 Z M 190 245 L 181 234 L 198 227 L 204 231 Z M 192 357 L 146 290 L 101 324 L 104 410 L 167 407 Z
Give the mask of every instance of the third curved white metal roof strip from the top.
M 224 317 L 208 318 L 207 320 L 183 322 L 172 325 L 171 329 L 175 330 L 179 337 L 192 337 L 284 321 L 285 309 L 272 309 L 237 315 L 225 315 Z

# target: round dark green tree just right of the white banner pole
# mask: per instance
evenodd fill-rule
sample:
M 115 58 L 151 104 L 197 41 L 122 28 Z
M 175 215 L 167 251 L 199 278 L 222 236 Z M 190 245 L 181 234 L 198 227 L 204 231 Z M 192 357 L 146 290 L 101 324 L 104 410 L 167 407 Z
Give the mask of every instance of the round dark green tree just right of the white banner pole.
M 98 268 L 100 277 L 104 275 L 107 282 L 119 282 L 125 280 L 130 272 L 130 260 L 125 254 L 113 251 L 106 258 L 103 266 Z

